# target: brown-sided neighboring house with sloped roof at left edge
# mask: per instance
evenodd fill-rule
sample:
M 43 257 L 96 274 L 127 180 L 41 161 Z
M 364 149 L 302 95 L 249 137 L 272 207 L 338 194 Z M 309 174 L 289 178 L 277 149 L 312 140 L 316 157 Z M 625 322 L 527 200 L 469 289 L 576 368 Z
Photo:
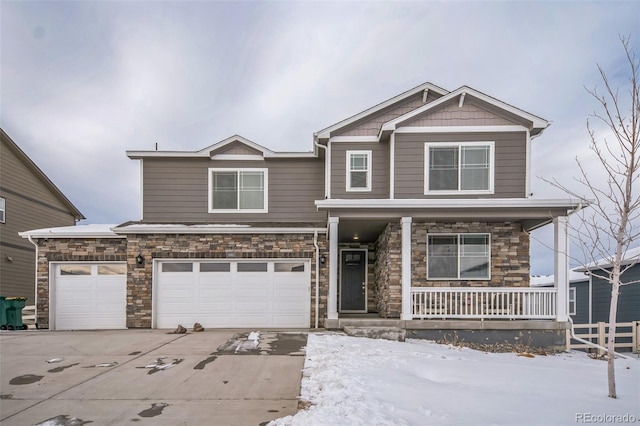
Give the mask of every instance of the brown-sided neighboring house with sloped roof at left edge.
M 0 295 L 35 304 L 35 247 L 18 232 L 84 216 L 2 129 L 0 139 Z

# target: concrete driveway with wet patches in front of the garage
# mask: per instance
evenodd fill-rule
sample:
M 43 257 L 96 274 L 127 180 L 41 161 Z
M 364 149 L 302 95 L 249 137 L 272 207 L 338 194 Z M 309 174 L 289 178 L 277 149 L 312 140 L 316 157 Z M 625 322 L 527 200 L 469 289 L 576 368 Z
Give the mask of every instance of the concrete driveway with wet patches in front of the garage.
M 294 414 L 307 335 L 254 337 L 236 330 L 2 332 L 0 423 L 262 425 Z M 63 360 L 47 362 L 54 358 Z

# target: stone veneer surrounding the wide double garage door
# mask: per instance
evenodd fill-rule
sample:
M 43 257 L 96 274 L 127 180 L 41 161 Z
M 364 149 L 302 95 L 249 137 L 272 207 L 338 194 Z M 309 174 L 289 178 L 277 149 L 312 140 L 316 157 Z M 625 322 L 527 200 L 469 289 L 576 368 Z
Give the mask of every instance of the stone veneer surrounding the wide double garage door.
M 320 265 L 319 322 L 324 326 L 329 289 L 329 255 L 326 236 L 318 237 L 320 255 L 327 258 Z M 127 327 L 150 328 L 152 306 L 153 259 L 311 259 L 311 326 L 315 323 L 315 247 L 313 234 L 234 234 L 176 235 L 130 234 L 127 237 Z M 142 254 L 143 267 L 135 258 Z

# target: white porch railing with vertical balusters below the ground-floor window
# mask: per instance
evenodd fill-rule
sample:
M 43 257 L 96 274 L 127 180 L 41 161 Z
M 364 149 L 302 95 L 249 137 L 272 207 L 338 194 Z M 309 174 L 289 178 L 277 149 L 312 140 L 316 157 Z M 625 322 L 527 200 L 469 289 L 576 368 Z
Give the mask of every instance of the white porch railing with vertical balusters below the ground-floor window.
M 555 319 L 555 288 L 412 287 L 414 319 Z

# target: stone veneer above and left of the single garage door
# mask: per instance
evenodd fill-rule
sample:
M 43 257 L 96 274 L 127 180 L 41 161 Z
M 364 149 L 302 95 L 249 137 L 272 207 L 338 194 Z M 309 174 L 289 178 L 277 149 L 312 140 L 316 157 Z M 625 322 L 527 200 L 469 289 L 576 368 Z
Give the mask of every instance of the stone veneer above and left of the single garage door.
M 39 239 L 37 273 L 37 318 L 39 328 L 49 328 L 50 262 L 124 262 L 127 242 L 124 238 Z

